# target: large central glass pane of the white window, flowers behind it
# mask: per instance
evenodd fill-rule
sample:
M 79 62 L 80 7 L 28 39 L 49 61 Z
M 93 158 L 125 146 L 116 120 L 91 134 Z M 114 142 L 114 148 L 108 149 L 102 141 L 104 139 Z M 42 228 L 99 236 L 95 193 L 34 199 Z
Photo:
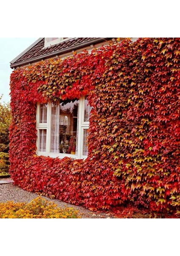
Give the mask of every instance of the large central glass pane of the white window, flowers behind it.
M 79 100 L 51 106 L 51 152 L 77 154 Z

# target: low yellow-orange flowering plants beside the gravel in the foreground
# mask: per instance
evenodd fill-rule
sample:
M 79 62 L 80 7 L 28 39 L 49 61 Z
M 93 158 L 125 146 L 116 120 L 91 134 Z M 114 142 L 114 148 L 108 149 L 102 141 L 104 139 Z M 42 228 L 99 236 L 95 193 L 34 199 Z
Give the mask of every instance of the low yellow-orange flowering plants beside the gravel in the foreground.
M 81 218 L 73 208 L 60 208 L 57 204 L 37 197 L 29 203 L 0 203 L 0 218 Z

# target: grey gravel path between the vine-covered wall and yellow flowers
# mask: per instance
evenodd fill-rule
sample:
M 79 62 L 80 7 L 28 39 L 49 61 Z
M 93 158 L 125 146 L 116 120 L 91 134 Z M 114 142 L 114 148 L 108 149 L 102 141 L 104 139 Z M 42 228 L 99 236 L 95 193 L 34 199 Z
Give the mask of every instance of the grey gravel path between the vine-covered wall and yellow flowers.
M 1 180 L 8 180 L 8 179 L 1 179 Z M 18 186 L 15 186 L 13 183 L 0 184 L 0 202 L 6 202 L 6 201 L 29 202 L 34 198 L 37 198 L 38 196 L 39 195 L 37 195 L 34 192 L 28 192 L 19 188 Z M 42 198 L 45 198 L 48 201 L 52 201 L 62 208 L 73 207 L 74 209 L 79 210 L 79 213 L 81 213 L 82 218 L 115 218 L 115 216 L 112 215 L 111 213 L 91 212 L 90 210 L 85 209 L 84 207 L 67 204 L 57 199 L 50 199 L 45 196 L 42 196 Z

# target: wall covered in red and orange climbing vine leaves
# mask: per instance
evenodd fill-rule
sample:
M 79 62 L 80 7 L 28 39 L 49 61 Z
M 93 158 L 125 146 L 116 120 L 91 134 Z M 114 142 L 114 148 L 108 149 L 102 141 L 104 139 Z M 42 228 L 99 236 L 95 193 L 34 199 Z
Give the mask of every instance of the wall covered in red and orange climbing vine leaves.
M 180 39 L 139 38 L 11 74 L 14 183 L 91 210 L 180 207 Z M 87 95 L 88 157 L 36 155 L 37 102 Z

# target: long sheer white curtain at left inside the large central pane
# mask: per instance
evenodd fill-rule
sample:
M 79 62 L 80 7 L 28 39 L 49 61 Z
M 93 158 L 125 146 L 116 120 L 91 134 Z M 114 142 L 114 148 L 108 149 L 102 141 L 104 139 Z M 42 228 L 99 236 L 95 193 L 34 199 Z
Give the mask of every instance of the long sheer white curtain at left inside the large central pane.
M 59 153 L 59 103 L 52 104 L 51 114 L 51 152 Z

